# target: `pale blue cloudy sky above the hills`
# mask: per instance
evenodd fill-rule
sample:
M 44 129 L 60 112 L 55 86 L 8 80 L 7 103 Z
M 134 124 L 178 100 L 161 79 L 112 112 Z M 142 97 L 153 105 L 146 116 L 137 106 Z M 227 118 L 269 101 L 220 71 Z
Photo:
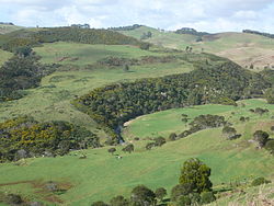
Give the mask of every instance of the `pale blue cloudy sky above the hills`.
M 91 27 L 142 24 L 203 32 L 274 33 L 274 0 L 0 0 L 0 22 Z

